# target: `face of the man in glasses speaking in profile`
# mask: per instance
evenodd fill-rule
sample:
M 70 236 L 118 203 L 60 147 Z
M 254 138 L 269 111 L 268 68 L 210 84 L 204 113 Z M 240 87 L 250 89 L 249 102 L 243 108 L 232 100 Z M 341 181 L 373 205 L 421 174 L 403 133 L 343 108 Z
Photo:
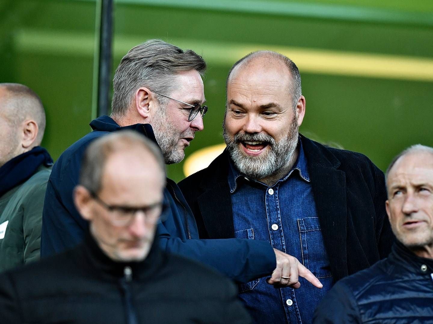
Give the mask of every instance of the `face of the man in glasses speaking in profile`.
M 203 81 L 197 71 L 181 72 L 174 80 L 177 87 L 165 95 L 191 105 L 205 102 Z M 197 114 L 192 121 L 188 121 L 191 107 L 172 99 L 167 99 L 165 107 L 159 105 L 155 108 L 149 123 L 165 163 L 179 163 L 184 159 L 184 149 L 194 139 L 195 132 L 203 130 L 203 119 Z

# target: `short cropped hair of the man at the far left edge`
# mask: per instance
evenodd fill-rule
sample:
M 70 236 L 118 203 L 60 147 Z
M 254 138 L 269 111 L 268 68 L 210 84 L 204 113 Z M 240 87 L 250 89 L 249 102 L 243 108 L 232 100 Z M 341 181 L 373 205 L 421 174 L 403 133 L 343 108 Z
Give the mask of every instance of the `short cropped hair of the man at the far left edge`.
M 45 110 L 41 98 L 28 86 L 19 83 L 0 83 L 6 90 L 4 106 L 8 109 L 6 115 L 11 123 L 18 126 L 26 118 L 32 118 L 38 124 L 38 134 L 35 144 L 42 142 L 45 132 Z

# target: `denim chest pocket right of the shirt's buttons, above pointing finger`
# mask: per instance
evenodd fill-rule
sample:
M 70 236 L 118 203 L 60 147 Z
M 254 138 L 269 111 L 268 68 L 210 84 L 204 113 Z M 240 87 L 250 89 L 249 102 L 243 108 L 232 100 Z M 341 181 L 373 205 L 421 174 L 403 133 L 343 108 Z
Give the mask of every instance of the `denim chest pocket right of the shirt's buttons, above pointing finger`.
M 318 217 L 297 219 L 301 239 L 302 264 L 317 278 L 331 277 L 328 254 L 323 244 Z

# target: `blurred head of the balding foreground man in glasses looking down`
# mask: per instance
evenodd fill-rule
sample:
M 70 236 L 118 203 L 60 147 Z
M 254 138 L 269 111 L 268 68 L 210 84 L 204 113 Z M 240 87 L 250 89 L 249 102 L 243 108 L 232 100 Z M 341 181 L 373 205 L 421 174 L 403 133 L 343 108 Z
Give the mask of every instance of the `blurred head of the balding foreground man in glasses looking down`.
M 108 257 L 141 261 L 163 211 L 164 186 L 158 146 L 138 133 L 120 131 L 87 147 L 74 200 Z

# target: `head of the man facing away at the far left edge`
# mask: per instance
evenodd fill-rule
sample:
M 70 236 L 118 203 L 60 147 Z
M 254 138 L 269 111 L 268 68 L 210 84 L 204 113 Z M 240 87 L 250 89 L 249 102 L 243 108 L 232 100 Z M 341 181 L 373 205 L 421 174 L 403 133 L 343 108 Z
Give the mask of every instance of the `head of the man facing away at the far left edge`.
M 40 145 L 44 130 L 39 96 L 22 84 L 0 83 L 0 166 Z

